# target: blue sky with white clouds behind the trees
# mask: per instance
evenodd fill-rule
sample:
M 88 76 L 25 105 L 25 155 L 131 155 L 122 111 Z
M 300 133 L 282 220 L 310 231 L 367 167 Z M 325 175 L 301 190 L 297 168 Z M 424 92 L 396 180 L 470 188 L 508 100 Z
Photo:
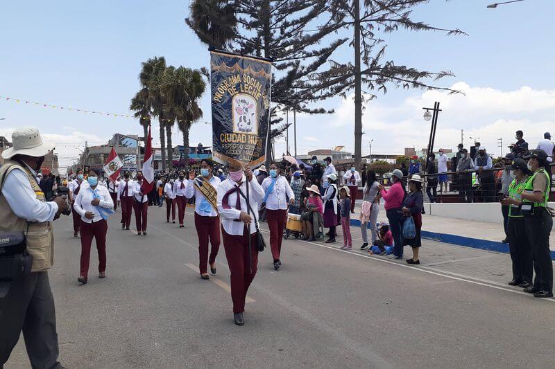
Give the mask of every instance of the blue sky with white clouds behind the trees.
M 429 122 L 422 107 L 441 103 L 436 149 L 455 149 L 478 139 L 499 155 L 522 129 L 531 145 L 555 131 L 555 48 L 551 26 L 555 2 L 526 0 L 486 9 L 493 0 L 432 0 L 413 19 L 441 28 L 460 28 L 468 36 L 444 33 L 398 33 L 384 36 L 386 59 L 427 71 L 450 70 L 456 76 L 436 82 L 463 91 L 395 89 L 366 103 L 363 154 L 373 140 L 373 154 L 403 154 L 404 147 L 427 145 Z M 137 120 L 69 111 L 67 108 L 132 114 L 130 98 L 139 90 L 141 62 L 164 56 L 167 64 L 209 66 L 207 46 L 185 25 L 189 1 L 19 1 L 0 6 L 0 96 L 43 102 L 17 104 L 0 99 L 0 135 L 34 125 L 56 143 L 60 165 L 69 165 L 89 145 L 106 143 L 114 133 L 142 134 Z M 332 60 L 348 62 L 346 46 Z M 354 151 L 354 104 L 332 98 L 315 107 L 334 114 L 297 114 L 297 152 L 344 145 Z M 201 100 L 204 117 L 191 128 L 190 143 L 211 145 L 209 93 Z M 291 117 L 290 117 L 291 118 Z M 174 129 L 173 143 L 182 143 Z M 555 132 L 553 132 L 555 133 Z M 153 125 L 153 145 L 160 145 Z M 293 129 L 289 150 L 294 151 Z M 471 138 L 472 137 L 472 138 Z M 10 139 L 10 136 L 8 136 Z M 275 143 L 280 156 L 284 138 Z M 61 170 L 63 172 L 63 170 Z

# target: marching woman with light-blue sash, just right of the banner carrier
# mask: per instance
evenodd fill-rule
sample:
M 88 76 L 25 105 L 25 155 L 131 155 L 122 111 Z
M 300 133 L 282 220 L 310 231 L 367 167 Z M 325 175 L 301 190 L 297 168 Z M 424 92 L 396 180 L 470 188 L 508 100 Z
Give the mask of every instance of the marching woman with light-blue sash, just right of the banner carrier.
M 270 165 L 270 177 L 262 181 L 264 189 L 264 199 L 262 204 L 266 204 L 266 222 L 270 228 L 270 248 L 273 256 L 273 269 L 280 269 L 282 264 L 280 255 L 282 251 L 283 229 L 287 222 L 287 197 L 289 205 L 295 203 L 295 195 L 289 181 L 280 173 L 278 165 Z

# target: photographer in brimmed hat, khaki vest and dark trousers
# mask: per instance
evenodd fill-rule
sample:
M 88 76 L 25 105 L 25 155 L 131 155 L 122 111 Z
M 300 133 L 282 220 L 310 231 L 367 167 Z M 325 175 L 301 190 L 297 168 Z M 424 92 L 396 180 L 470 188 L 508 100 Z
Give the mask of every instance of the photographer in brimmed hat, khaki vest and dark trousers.
M 0 298 L 0 368 L 22 330 L 33 368 L 61 368 L 48 269 L 53 264 L 51 222 L 69 206 L 63 197 L 46 202 L 36 181 L 44 156 L 54 145 L 43 142 L 35 127 L 16 129 L 12 138 L 13 147 L 2 152 L 6 162 L 0 168 L 0 232 L 23 232 L 33 265 L 31 273 L 19 276 L 11 285 L 0 282 L 0 289 L 9 288 Z

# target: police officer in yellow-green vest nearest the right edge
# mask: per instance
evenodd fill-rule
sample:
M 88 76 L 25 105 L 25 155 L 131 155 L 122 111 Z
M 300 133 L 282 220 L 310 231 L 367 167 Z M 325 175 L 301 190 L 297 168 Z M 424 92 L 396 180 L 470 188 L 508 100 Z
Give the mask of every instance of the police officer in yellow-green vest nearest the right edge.
M 536 297 L 552 297 L 553 264 L 549 251 L 549 233 L 551 233 L 553 219 L 547 208 L 551 181 L 545 170 L 549 163 L 547 154 L 543 150 L 533 150 L 522 159 L 528 159 L 528 169 L 533 172 L 524 186 L 520 211 L 524 215 L 524 226 L 536 271 L 533 286 L 525 288 L 524 292 Z

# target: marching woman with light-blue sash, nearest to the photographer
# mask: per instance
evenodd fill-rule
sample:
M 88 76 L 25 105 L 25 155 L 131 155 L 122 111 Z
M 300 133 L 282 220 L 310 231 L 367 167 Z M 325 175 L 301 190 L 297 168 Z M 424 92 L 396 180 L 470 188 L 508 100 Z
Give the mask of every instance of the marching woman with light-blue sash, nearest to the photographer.
M 88 281 L 89 261 L 92 239 L 96 240 L 96 250 L 99 251 L 99 278 L 105 278 L 106 271 L 106 219 L 114 213 L 114 202 L 108 188 L 99 185 L 99 174 L 95 170 L 89 171 L 87 177 L 89 186 L 81 188 L 75 200 L 74 208 L 80 215 L 81 233 L 81 262 L 80 274 L 77 280 L 84 285 Z

